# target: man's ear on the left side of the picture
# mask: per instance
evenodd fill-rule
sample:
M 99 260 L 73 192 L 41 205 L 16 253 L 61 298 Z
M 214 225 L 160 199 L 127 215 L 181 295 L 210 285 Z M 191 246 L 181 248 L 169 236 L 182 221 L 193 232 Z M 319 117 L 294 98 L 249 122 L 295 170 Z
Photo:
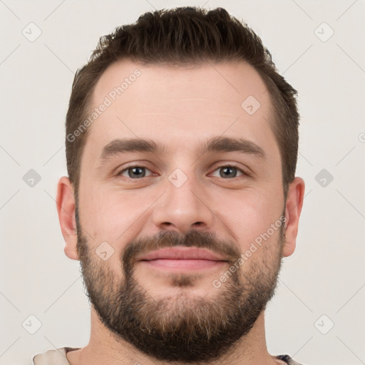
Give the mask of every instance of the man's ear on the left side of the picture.
M 73 196 L 73 186 L 70 179 L 66 176 L 63 176 L 60 180 L 58 180 L 56 204 L 58 220 L 60 221 L 63 239 L 66 242 L 64 249 L 65 254 L 70 259 L 77 260 L 75 198 Z

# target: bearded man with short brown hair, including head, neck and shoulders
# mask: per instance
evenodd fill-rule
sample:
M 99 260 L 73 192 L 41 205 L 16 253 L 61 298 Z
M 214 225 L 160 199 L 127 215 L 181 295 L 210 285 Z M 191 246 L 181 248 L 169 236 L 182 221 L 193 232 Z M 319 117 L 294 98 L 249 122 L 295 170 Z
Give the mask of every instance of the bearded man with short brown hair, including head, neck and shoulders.
M 304 197 L 296 94 L 221 8 L 101 38 L 73 82 L 57 193 L 91 338 L 34 364 L 298 364 L 264 332 Z

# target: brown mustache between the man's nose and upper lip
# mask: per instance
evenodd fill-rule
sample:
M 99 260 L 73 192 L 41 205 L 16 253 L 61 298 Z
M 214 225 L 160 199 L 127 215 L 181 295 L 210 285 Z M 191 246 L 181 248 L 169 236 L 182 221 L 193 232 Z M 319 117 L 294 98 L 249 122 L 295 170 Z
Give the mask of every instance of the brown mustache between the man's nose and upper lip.
M 154 236 L 142 236 L 133 240 L 125 246 L 122 255 L 122 262 L 125 270 L 132 269 L 135 264 L 135 257 L 138 254 L 145 254 L 150 251 L 163 248 L 185 246 L 197 247 L 212 250 L 217 254 L 227 257 L 229 261 L 235 262 L 241 252 L 238 247 L 229 240 L 219 240 L 212 232 L 200 232 L 190 230 L 185 235 L 176 231 L 160 231 Z

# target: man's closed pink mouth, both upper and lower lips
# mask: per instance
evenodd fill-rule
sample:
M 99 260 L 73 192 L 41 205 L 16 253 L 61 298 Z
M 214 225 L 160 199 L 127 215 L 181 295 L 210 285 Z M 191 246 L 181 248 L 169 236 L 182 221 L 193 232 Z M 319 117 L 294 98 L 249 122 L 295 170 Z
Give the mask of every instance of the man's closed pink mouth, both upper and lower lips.
M 149 252 L 138 257 L 138 262 L 156 269 L 200 270 L 226 264 L 225 257 L 196 247 L 172 247 Z

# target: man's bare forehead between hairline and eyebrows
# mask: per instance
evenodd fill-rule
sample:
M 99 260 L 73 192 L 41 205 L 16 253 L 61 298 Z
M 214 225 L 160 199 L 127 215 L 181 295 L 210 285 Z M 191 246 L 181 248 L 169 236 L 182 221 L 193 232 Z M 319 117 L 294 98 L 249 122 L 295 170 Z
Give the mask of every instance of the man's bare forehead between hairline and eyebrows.
M 96 83 L 93 110 L 98 115 L 85 147 L 93 160 L 110 141 L 138 137 L 155 140 L 168 152 L 188 153 L 190 147 L 201 150 L 198 144 L 207 138 L 240 135 L 278 154 L 269 128 L 269 93 L 247 63 L 171 67 L 118 61 Z

